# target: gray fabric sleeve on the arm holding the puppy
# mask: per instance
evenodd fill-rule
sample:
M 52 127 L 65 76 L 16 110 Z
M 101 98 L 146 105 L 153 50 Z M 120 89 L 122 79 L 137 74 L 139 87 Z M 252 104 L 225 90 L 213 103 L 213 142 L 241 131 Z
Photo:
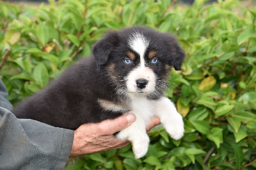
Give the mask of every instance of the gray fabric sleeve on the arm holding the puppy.
M 0 169 L 64 169 L 74 131 L 17 119 L 6 97 L 0 79 Z

